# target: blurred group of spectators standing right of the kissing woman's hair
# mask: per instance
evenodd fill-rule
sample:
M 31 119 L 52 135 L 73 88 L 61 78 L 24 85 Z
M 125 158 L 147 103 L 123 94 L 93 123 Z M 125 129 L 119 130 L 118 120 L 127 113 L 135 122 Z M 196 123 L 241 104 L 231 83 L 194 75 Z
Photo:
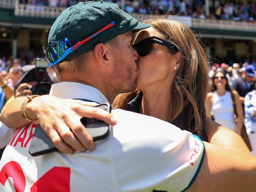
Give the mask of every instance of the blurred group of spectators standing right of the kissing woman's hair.
M 209 79 L 207 115 L 239 135 L 244 126 L 250 142 L 255 146 L 255 66 L 249 63 L 234 63 L 232 66 L 215 63 L 209 70 Z

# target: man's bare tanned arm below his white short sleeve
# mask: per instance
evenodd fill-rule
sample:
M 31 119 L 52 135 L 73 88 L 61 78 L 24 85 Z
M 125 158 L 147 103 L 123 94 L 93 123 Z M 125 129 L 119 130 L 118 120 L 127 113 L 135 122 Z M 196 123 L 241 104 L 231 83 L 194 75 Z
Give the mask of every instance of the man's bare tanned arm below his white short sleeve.
M 187 191 L 255 191 L 256 159 L 248 150 L 204 144 L 202 167 Z

